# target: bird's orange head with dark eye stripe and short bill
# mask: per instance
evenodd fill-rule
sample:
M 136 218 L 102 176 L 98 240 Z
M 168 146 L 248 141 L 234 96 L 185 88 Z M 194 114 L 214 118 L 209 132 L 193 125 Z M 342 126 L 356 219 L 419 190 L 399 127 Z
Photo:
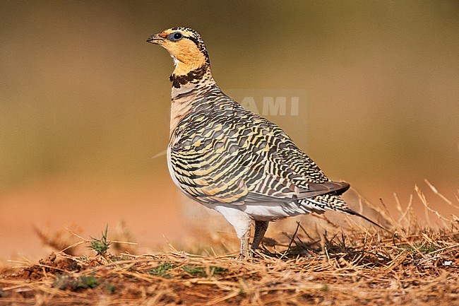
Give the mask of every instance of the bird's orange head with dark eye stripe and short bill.
M 170 28 L 148 37 L 147 42 L 167 49 L 174 59 L 174 75 L 183 76 L 209 65 L 209 56 L 201 36 L 191 28 Z

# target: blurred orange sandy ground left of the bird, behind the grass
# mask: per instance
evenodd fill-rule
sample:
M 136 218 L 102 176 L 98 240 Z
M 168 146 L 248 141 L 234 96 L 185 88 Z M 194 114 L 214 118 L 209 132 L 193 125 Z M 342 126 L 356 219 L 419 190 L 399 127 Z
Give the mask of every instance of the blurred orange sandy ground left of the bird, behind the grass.
M 83 237 L 99 237 L 105 225 L 113 233 L 124 222 L 144 250 L 179 240 L 179 194 L 171 184 L 43 182 L 0 196 L 0 261 L 47 254 L 33 226 L 53 233 L 63 228 Z M 173 205 L 176 203 L 175 205 Z

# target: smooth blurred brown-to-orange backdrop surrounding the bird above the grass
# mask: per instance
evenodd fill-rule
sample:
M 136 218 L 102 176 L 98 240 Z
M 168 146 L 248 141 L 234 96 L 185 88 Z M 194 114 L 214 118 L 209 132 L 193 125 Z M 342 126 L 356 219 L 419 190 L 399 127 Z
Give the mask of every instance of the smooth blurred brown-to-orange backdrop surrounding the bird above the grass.
M 0 259 L 46 254 L 34 226 L 121 224 L 147 251 L 186 239 L 198 204 L 153 158 L 172 59 L 145 42 L 176 25 L 201 33 L 229 95 L 305 92 L 297 115 L 268 118 L 329 177 L 389 208 L 418 184 L 449 218 L 424 179 L 456 201 L 458 15 L 455 0 L 1 1 Z

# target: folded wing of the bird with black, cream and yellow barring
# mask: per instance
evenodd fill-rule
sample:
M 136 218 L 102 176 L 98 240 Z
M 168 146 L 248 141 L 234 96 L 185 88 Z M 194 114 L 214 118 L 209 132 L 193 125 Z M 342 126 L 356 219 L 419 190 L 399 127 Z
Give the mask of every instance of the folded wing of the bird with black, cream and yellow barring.
M 231 100 L 191 112 L 174 138 L 175 176 L 198 201 L 294 201 L 349 188 L 330 182 L 278 126 Z

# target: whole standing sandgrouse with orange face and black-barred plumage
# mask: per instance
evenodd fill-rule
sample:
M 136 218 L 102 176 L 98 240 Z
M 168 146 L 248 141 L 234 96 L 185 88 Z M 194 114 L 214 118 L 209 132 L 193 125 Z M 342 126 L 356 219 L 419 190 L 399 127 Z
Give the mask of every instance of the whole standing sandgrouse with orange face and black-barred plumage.
M 169 28 L 147 42 L 164 47 L 175 66 L 169 174 L 181 192 L 233 226 L 240 257 L 254 254 L 271 221 L 292 216 L 339 211 L 383 228 L 341 198 L 350 184 L 330 180 L 284 130 L 222 92 L 196 30 Z

